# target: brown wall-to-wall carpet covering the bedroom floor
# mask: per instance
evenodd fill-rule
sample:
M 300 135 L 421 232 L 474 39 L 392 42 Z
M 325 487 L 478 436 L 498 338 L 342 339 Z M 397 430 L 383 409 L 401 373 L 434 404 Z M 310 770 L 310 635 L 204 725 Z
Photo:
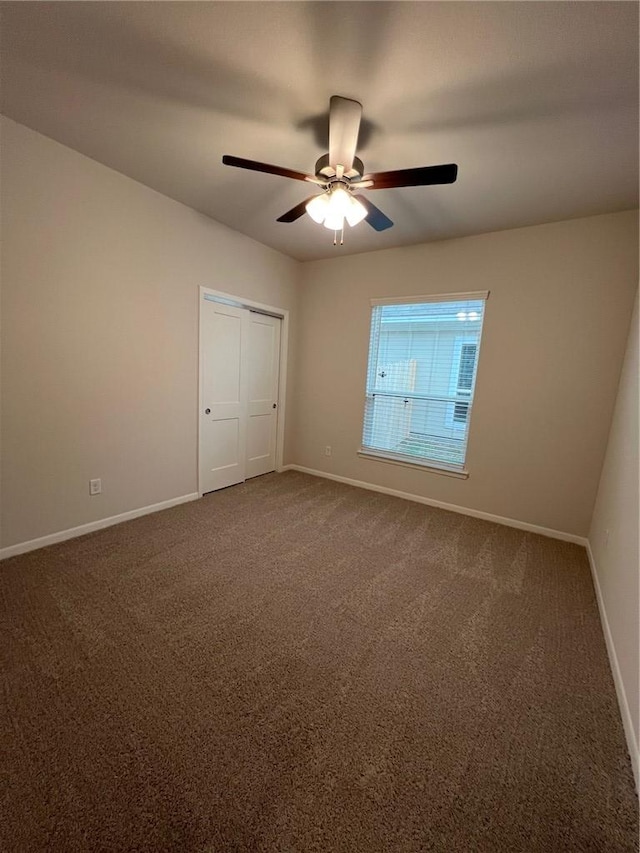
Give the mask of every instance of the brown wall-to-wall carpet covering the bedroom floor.
M 576 545 L 289 472 L 0 590 L 2 850 L 637 850 Z

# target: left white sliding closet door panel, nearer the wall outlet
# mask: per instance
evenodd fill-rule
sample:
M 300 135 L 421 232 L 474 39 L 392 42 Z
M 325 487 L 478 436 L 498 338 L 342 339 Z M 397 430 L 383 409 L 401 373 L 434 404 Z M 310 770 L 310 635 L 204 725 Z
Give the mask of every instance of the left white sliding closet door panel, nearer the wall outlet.
M 202 300 L 200 491 L 241 483 L 246 476 L 247 377 L 242 367 L 249 312 Z

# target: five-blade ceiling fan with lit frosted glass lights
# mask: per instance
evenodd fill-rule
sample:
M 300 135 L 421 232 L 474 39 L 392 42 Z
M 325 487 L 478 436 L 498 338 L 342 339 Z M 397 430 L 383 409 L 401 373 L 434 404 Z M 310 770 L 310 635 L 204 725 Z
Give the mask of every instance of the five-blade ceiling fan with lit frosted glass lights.
M 364 219 L 376 231 L 384 231 L 391 228 L 393 222 L 366 196 L 356 195 L 355 190 L 452 184 L 457 177 L 458 167 L 455 163 L 448 163 L 365 175 L 362 160 L 355 156 L 361 118 L 362 104 L 333 95 L 329 101 L 329 152 L 316 162 L 313 175 L 230 154 L 225 154 L 222 162 L 239 169 L 308 181 L 322 188 L 320 194 L 306 198 L 279 216 L 278 222 L 295 222 L 306 212 L 315 222 L 334 231 L 335 235 L 343 231 L 345 219 L 351 226 Z

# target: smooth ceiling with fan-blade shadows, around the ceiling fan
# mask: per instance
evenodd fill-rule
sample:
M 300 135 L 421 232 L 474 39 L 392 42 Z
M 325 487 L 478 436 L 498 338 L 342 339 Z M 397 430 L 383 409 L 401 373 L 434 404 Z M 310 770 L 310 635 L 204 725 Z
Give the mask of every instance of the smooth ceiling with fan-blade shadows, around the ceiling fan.
M 2 112 L 293 258 L 638 205 L 635 2 L 2 2 Z M 309 187 L 329 97 L 364 106 L 366 171 L 458 164 L 371 191 L 395 222 L 276 218 Z M 323 139 L 323 136 L 325 137 Z M 311 190 L 313 192 L 313 190 Z

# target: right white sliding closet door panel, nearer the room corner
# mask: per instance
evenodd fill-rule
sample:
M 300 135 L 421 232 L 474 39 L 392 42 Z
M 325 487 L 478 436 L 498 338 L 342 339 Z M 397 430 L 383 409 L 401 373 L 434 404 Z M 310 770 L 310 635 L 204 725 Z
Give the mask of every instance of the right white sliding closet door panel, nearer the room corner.
M 276 467 L 280 322 L 277 317 L 253 312 L 249 319 L 247 477 L 258 477 Z

